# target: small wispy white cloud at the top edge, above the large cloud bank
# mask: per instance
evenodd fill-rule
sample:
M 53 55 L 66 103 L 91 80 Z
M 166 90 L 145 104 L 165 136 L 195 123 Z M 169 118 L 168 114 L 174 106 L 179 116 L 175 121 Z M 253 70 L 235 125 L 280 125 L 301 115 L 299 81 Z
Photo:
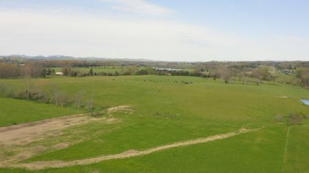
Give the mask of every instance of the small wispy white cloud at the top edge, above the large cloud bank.
M 135 12 L 151 15 L 166 15 L 173 14 L 174 11 L 164 8 L 155 3 L 150 3 L 145 0 L 101 0 L 104 2 L 113 3 L 113 10 L 121 10 L 124 12 Z

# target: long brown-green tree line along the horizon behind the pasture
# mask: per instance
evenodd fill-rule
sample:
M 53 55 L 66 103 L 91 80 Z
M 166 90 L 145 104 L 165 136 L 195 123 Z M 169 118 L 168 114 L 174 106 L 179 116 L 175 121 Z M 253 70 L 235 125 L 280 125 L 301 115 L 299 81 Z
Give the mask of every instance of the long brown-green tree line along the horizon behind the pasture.
M 92 66 L 113 64 L 121 65 L 121 71 L 94 72 Z M 126 66 L 124 66 L 126 65 Z M 168 68 L 187 68 L 187 70 L 155 70 L 150 65 L 160 65 Z M 173 75 L 193 76 L 222 79 L 229 83 L 231 79 L 238 79 L 242 83 L 253 81 L 259 85 L 262 81 L 274 81 L 275 77 L 269 72 L 269 67 L 277 69 L 295 69 L 297 85 L 309 87 L 309 62 L 201 62 L 201 63 L 178 63 L 178 62 L 115 62 L 115 61 L 87 61 L 87 60 L 27 60 L 18 62 L 16 60 L 0 61 L 0 78 L 14 77 L 46 77 L 55 75 L 54 66 L 62 66 L 62 72 L 70 77 L 87 76 L 119 76 L 119 75 Z M 87 66 L 89 72 L 81 72 L 73 67 Z M 148 67 L 147 67 L 148 66 Z M 142 67 L 142 68 L 141 68 Z M 294 76 L 293 76 L 294 77 Z

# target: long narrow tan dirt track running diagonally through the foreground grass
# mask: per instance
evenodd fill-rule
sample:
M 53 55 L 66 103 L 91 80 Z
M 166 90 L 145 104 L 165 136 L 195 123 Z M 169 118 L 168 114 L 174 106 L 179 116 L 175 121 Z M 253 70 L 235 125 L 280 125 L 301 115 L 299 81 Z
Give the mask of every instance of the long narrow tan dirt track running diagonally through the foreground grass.
M 176 142 L 173 144 L 167 144 L 164 146 L 158 146 L 158 147 L 150 148 L 146 150 L 128 150 L 126 152 L 122 152 L 122 153 L 115 154 L 115 155 L 103 155 L 99 157 L 93 157 L 89 159 L 80 159 L 80 160 L 75 160 L 75 161 L 36 161 L 32 163 L 10 163 L 10 164 L 8 163 L 8 164 L 0 165 L 0 168 L 1 167 L 2 168 L 27 168 L 29 170 L 41 170 L 45 168 L 62 168 L 62 167 L 73 166 L 73 165 L 88 165 L 91 163 L 98 163 L 100 161 L 106 161 L 110 159 L 125 159 L 128 157 L 138 157 L 141 155 L 148 155 L 152 152 L 158 152 L 158 151 L 166 150 L 169 148 L 190 146 L 194 144 L 201 144 L 201 143 L 216 141 L 219 139 L 225 139 L 228 137 L 233 137 L 235 135 L 240 135 L 242 133 L 249 133 L 249 132 L 258 131 L 258 130 L 259 129 L 243 129 L 242 128 L 236 132 L 222 133 L 222 134 L 213 135 L 209 137 L 191 139 L 191 140 L 187 140 L 184 142 Z

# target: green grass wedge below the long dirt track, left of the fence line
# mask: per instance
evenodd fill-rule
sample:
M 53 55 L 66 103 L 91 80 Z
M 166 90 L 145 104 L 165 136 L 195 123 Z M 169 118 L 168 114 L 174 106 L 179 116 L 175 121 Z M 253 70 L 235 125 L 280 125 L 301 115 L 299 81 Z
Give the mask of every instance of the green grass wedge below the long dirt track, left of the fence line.
M 270 127 L 144 157 L 38 172 L 280 172 L 284 136 L 285 128 Z

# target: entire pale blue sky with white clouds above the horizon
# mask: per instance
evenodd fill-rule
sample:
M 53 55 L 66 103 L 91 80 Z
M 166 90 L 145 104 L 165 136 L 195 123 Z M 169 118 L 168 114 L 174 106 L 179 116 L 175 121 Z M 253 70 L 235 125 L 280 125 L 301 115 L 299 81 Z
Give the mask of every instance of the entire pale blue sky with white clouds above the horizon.
M 0 0 L 0 55 L 309 61 L 309 1 Z

